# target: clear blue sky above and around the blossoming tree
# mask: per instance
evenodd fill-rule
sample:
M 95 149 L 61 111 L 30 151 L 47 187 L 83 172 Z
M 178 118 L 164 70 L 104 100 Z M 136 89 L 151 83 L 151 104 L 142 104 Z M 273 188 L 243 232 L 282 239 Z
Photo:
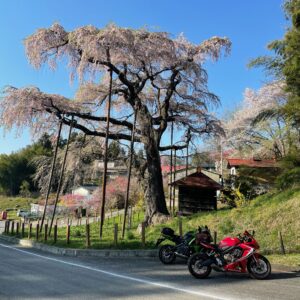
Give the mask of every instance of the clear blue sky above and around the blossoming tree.
M 266 80 L 260 70 L 248 70 L 251 58 L 270 54 L 266 45 L 280 39 L 287 22 L 282 0 L 10 0 L 0 1 L 0 88 L 5 85 L 38 86 L 42 91 L 72 97 L 65 65 L 53 72 L 48 67 L 34 70 L 27 62 L 23 39 L 38 28 L 59 22 L 67 30 L 92 24 L 167 31 L 174 37 L 183 32 L 194 43 L 211 36 L 232 41 L 230 56 L 208 63 L 209 87 L 221 99 L 222 111 L 236 107 L 246 87 L 259 88 Z M 16 137 L 3 136 L 0 153 L 16 151 L 30 144 L 28 130 Z

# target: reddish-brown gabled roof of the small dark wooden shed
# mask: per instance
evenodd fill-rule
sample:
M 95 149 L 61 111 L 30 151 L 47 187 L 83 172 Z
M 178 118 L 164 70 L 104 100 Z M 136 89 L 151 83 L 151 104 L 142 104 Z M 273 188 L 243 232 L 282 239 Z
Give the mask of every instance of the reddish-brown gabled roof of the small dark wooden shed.
M 221 190 L 222 186 L 215 182 L 213 179 L 204 175 L 202 172 L 196 172 L 188 175 L 185 178 L 181 178 L 172 183 L 175 186 L 185 186 L 185 187 L 193 187 L 193 188 L 201 188 L 201 189 L 214 189 Z

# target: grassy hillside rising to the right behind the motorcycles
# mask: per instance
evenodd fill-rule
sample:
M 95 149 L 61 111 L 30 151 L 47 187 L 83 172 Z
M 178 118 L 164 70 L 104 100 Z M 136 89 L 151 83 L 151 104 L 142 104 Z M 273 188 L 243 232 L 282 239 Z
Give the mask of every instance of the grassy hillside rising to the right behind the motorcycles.
M 217 239 L 235 235 L 245 229 L 255 230 L 262 251 L 278 252 L 281 231 L 287 252 L 300 252 L 300 189 L 274 192 L 254 199 L 248 206 L 203 212 L 183 217 L 183 231 L 207 225 L 217 232 Z M 178 228 L 177 219 L 167 226 Z M 147 240 L 159 235 L 162 226 L 150 228 Z

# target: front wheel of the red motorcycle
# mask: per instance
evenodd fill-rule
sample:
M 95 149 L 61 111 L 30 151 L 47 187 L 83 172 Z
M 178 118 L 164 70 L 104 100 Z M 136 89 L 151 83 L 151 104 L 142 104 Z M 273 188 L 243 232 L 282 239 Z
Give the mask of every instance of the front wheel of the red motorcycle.
M 254 279 L 265 279 L 271 274 L 271 264 L 262 255 L 251 257 L 248 260 L 247 269 L 250 276 Z

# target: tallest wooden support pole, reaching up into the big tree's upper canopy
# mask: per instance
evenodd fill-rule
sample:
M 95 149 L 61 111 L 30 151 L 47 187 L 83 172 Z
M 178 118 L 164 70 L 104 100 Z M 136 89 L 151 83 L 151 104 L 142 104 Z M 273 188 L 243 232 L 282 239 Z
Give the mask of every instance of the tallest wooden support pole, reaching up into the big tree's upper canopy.
M 107 59 L 110 61 L 109 50 L 107 50 Z M 103 181 L 102 181 L 102 198 L 101 198 L 101 211 L 100 211 L 100 240 L 103 234 L 103 224 L 105 217 L 105 200 L 106 200 L 106 181 L 107 181 L 107 161 L 108 161 L 108 136 L 109 136 L 109 119 L 110 119 L 110 106 L 111 106 L 111 96 L 112 96 L 112 69 L 109 69 L 109 94 L 107 102 L 107 112 L 106 112 L 106 132 L 105 132 L 105 143 L 104 143 L 104 168 L 103 168 Z

